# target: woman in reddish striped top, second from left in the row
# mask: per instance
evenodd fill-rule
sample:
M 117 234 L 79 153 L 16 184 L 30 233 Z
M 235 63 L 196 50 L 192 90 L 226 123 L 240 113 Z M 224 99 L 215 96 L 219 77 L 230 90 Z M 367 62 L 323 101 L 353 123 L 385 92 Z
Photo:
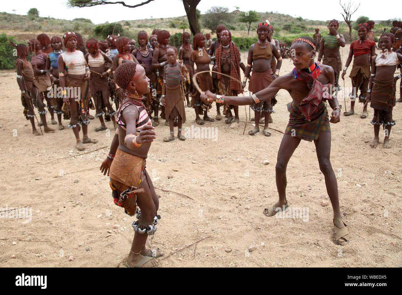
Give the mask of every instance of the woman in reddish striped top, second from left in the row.
M 46 100 L 47 110 L 49 110 L 51 116 L 51 124 L 55 125 L 57 122 L 54 120 L 54 108 L 51 103 L 49 91 L 47 90 L 48 87 L 51 86 L 51 81 L 49 75 L 46 71 L 46 59 L 47 53 L 41 51 L 41 45 L 38 40 L 31 39 L 28 42 L 29 51 L 33 53 L 31 56 L 31 65 L 33 67 L 33 73 L 35 74 L 35 79 L 33 83 L 37 87 L 39 94 Z M 41 114 L 41 112 L 39 112 Z M 43 114 L 46 114 L 44 111 Z M 41 117 L 41 123 L 43 119 Z

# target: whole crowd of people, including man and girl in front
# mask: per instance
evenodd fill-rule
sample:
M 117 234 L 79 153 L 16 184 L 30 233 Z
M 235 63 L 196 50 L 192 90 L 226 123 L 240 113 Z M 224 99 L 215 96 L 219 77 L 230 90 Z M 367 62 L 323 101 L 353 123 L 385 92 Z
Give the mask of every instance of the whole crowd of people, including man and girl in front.
M 170 136 L 164 138 L 164 141 L 175 138 L 174 126 L 178 126 L 178 139 L 186 139 L 181 134 L 182 124 L 186 120 L 185 100 L 187 106 L 194 107 L 196 122 L 200 125 L 205 124 L 205 121 L 221 120 L 221 105 L 224 107 L 223 114 L 227 117 L 226 123 L 239 122 L 238 106 L 252 105 L 256 127 L 250 130 L 249 134 L 259 132 L 258 124 L 263 113 L 263 133 L 269 136 L 271 134 L 268 132 L 268 123 L 272 120 L 272 106 L 280 89 L 289 92 L 292 102 L 287 104 L 290 113 L 289 124 L 279 147 L 275 167 L 279 200 L 263 213 L 273 216 L 289 206 L 286 198 L 287 163 L 301 139 L 310 142 L 314 140 L 320 170 L 325 177 L 332 203 L 335 238 L 339 244 L 343 244 L 349 240 L 349 231 L 340 213 L 337 182 L 330 163 L 329 123 L 340 121 L 337 92 L 333 90 L 339 88 L 338 77 L 342 67 L 339 46 L 345 46 L 345 39 L 338 34 L 337 29 L 338 22 L 332 20 L 329 24 L 330 33 L 322 39 L 312 39 L 308 36 L 295 39 L 291 45 L 291 59 L 295 67 L 293 71 L 281 77 L 279 71 L 282 58 L 279 43 L 271 38 L 273 28 L 268 21 L 258 24 L 258 40 L 250 46 L 246 65 L 232 42 L 230 31 L 224 25 L 217 27 L 217 39 L 213 42 L 208 34 L 196 34 L 193 37 L 193 48 L 190 45 L 190 34 L 183 33 L 182 45 L 178 52 L 176 47 L 169 45 L 168 31 L 154 31 L 149 39 L 146 32 L 139 32 L 138 48 L 135 48 L 133 40 L 115 35 L 109 35 L 106 41 L 89 39 L 84 46 L 80 46 L 84 43 L 80 43 L 78 34 L 68 32 L 63 36 L 63 44 L 67 49 L 64 52 L 62 40 L 56 36 L 51 39 L 50 45 L 31 40 L 29 50 L 35 53 L 31 63 L 26 58 L 28 47 L 23 44 L 16 45 L 17 81 L 26 107 L 25 114 L 27 119 L 31 119 L 34 134 L 39 133 L 33 121 L 32 102 L 39 108 L 45 132 L 54 131 L 46 124 L 46 110 L 41 97 L 48 97 L 48 80 L 63 87 L 62 89 L 78 87 L 80 90 L 74 98 L 69 98 L 66 90 L 62 90 L 60 98 L 63 101 L 58 95 L 50 95 L 48 102 L 49 110 L 50 107 L 56 109 L 60 129 L 61 114 L 63 110 L 69 110 L 69 126 L 73 128 L 78 149 L 82 149 L 83 143 L 96 142 L 88 138 L 87 134 L 88 87 L 95 100 L 100 128 L 105 127 L 102 118 L 104 112 L 117 123 L 109 154 L 100 170 L 104 175 L 110 176 L 114 203 L 123 207 L 129 216 L 137 215 L 138 220 L 132 224 L 135 234 L 131 250 L 124 260 L 128 267 L 154 267 L 158 263 L 155 258 L 164 254 L 157 248 L 148 249 L 145 246 L 147 236 L 156 232 L 156 224 L 160 219 L 158 197 L 146 171 L 148 151 L 156 138 L 154 126 L 159 124 L 159 107 L 161 117 L 166 119 L 165 124 L 170 126 Z M 375 138 L 370 145 L 375 147 L 378 144 L 379 125 L 383 124 L 388 131 L 388 137 L 391 126 L 395 124 L 392 120 L 392 108 L 395 105 L 396 80 L 400 75 L 394 78 L 393 74 L 397 63 L 402 61 L 402 55 L 391 50 L 395 38 L 390 33 L 381 35 L 381 53 L 375 55 L 375 43 L 367 38 L 369 30 L 368 23 L 359 24 L 359 39 L 351 44 L 349 58 L 341 76 L 344 78 L 347 66 L 352 57 L 355 57 L 351 72 L 352 83 L 355 89 L 360 89 L 359 98 L 365 102 L 371 101 L 371 107 L 374 108 L 371 123 L 374 124 Z M 318 39 L 319 50 L 316 48 Z M 318 60 L 323 59 L 323 65 L 314 61 L 317 51 Z M 107 52 L 109 53 L 106 54 Z M 209 71 L 211 61 L 212 76 Z M 240 79 L 240 69 L 244 72 L 243 81 Z M 195 73 L 201 94 L 196 91 L 196 85 L 191 83 Z M 370 78 L 369 81 L 367 78 Z M 244 90 L 247 79 L 250 79 L 248 88 L 252 96 L 239 97 L 238 94 Z M 109 102 L 110 88 L 116 89 L 117 92 L 117 112 Z M 189 96 L 192 97 L 191 102 Z M 351 94 L 351 98 L 355 97 L 355 94 Z M 332 108 L 330 116 L 324 100 L 328 100 Z M 212 102 L 216 102 L 215 119 L 207 114 Z M 354 101 L 351 111 L 345 112 L 345 116 L 353 114 L 353 106 Z M 203 119 L 200 115 L 203 115 Z M 363 108 L 362 117 L 363 115 L 367 117 L 367 106 Z M 52 116 L 52 123 L 53 121 Z M 80 125 L 84 136 L 82 140 L 79 138 Z M 388 138 L 384 140 L 384 147 L 389 147 Z

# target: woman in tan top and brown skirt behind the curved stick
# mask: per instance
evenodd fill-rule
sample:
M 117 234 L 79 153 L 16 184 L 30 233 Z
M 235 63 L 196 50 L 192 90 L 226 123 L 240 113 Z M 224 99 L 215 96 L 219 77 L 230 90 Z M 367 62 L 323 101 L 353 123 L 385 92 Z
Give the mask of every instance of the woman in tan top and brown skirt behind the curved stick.
M 197 33 L 193 37 L 193 51 L 190 55 L 190 71 L 191 75 L 194 75 L 194 64 L 197 66 L 196 72 L 209 71 L 209 63 L 211 57 L 209 57 L 207 50 L 204 47 L 205 36 L 201 33 Z M 202 91 L 213 90 L 212 78 L 210 73 L 201 73 L 197 75 L 197 80 Z M 195 95 L 194 95 L 195 92 Z M 211 109 L 212 103 L 205 104 L 200 99 L 200 94 L 194 90 L 194 110 L 195 110 L 195 122 L 199 125 L 205 124 L 205 121 L 213 122 L 213 118 L 208 117 L 208 110 Z M 200 114 L 204 113 L 204 118 L 201 120 Z

